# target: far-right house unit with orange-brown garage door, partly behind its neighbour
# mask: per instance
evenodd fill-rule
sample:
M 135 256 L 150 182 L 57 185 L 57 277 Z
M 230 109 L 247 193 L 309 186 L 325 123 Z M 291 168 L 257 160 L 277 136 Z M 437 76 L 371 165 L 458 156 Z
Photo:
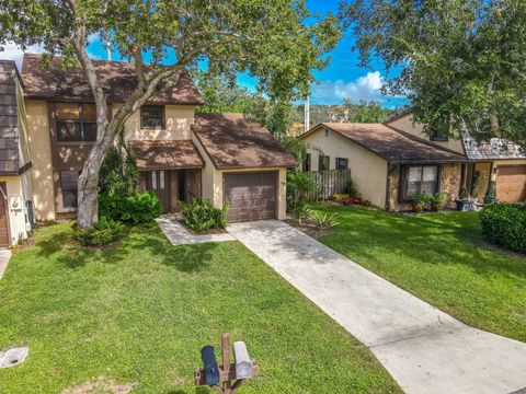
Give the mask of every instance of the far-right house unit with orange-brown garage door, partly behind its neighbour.
M 390 119 L 386 124 L 422 139 L 430 139 L 422 132 L 422 125 L 413 124 L 411 114 Z M 459 152 L 468 159 L 462 179 L 471 192 L 476 172 L 479 173 L 479 201 L 483 200 L 490 181 L 495 182 L 499 200 L 507 202 L 526 200 L 526 153 L 518 146 L 500 138 L 478 143 L 468 135 L 454 137 L 448 139 L 437 132 L 431 139 L 434 143 Z

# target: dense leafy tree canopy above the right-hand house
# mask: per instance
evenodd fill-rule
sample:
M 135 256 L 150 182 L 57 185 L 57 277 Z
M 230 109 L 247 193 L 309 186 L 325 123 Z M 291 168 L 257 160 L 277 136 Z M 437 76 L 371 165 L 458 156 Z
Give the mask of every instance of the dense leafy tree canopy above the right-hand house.
M 407 95 L 427 132 L 526 147 L 526 1 L 355 0 L 344 14 L 362 65 L 395 69 L 386 93 Z

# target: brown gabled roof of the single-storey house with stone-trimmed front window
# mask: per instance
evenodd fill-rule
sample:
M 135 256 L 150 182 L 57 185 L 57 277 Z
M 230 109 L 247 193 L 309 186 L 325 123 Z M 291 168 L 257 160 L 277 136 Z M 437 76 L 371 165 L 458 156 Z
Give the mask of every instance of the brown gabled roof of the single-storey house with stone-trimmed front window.
M 467 161 L 466 157 L 460 153 L 384 124 L 322 123 L 305 132 L 300 138 L 305 138 L 320 127 L 348 138 L 391 163 Z

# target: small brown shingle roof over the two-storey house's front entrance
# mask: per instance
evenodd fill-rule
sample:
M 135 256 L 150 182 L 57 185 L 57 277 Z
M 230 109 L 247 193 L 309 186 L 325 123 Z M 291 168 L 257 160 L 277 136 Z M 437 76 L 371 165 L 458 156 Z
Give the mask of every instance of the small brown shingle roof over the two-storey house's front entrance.
M 192 141 L 132 141 L 138 170 L 199 169 L 204 162 Z

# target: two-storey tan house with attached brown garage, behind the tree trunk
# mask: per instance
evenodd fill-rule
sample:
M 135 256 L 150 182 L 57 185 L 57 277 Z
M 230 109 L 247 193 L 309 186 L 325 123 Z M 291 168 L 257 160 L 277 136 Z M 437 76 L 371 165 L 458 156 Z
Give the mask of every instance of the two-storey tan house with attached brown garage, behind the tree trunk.
M 28 185 L 35 217 L 57 220 L 76 215 L 78 176 L 96 136 L 95 105 L 82 70 L 61 69 L 59 58 L 43 69 L 39 60 L 32 54 L 23 58 L 25 100 L 20 105 L 26 116 L 21 121 L 27 124 L 33 160 Z M 135 86 L 134 66 L 94 65 L 110 113 L 115 113 Z M 228 204 L 230 221 L 283 219 L 286 169 L 297 165 L 295 159 L 266 129 L 241 115 L 194 116 L 202 104 L 193 81 L 183 74 L 175 88 L 157 94 L 127 120 L 140 187 L 153 190 L 165 212 L 178 210 L 179 200 L 204 196 L 216 207 Z M 25 163 L 20 159 L 20 167 Z

